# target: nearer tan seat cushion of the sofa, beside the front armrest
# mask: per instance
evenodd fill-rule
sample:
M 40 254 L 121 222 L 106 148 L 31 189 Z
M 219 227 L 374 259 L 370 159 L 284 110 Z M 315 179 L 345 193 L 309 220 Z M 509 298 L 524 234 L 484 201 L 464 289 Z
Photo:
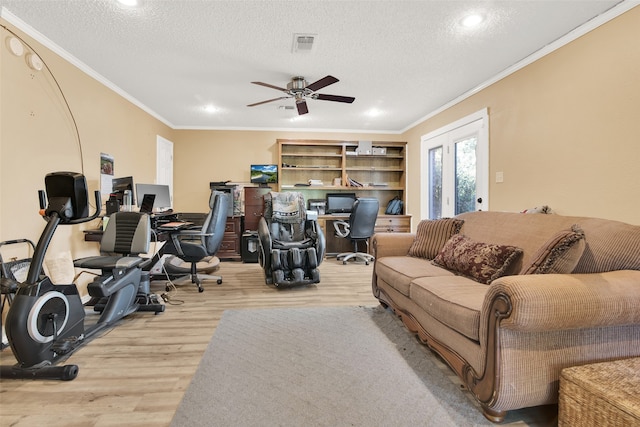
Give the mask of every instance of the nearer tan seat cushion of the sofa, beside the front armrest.
M 411 283 L 409 296 L 432 317 L 479 341 L 480 310 L 488 290 L 462 276 L 421 277 Z

